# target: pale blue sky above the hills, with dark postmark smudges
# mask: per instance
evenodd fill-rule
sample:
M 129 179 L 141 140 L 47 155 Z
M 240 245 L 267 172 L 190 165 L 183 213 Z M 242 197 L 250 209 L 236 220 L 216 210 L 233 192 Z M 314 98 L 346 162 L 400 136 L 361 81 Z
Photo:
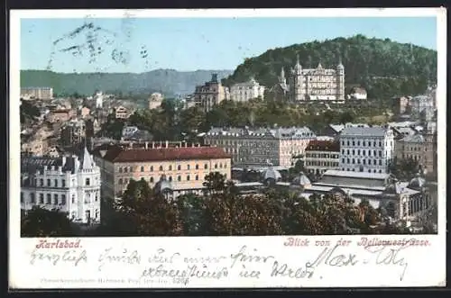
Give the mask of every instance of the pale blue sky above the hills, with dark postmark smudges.
M 55 13 L 58 13 L 55 11 Z M 84 19 L 23 19 L 21 69 L 58 72 L 133 72 L 156 68 L 180 71 L 235 69 L 245 58 L 295 43 L 364 34 L 437 49 L 434 17 L 374 18 L 146 18 L 89 19 L 97 31 L 93 46 L 102 53 L 89 63 L 88 50 L 75 56 L 60 50 L 87 43 L 87 31 L 52 47 Z M 92 30 L 91 30 L 92 32 Z M 115 37 L 113 37 L 115 32 Z M 115 54 L 112 52 L 115 50 Z M 52 56 L 52 51 L 55 54 Z M 145 51 L 145 53 L 141 53 Z M 121 56 L 119 53 L 123 52 Z M 128 53 L 128 54 L 126 54 Z M 113 58 L 115 56 L 115 58 Z M 125 62 L 121 62 L 121 57 Z M 49 62 L 51 63 L 49 64 Z

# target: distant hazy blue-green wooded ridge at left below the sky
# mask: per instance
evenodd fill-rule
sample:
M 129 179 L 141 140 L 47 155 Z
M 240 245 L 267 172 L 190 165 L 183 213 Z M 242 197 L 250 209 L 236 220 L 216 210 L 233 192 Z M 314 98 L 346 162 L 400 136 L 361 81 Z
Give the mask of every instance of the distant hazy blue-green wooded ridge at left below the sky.
M 176 71 L 156 69 L 141 74 L 133 73 L 80 73 L 62 74 L 46 70 L 22 70 L 21 86 L 51 86 L 54 93 L 92 95 L 96 90 L 106 93 L 164 95 L 191 94 L 197 85 L 211 79 L 211 74 L 226 77 L 230 70 Z

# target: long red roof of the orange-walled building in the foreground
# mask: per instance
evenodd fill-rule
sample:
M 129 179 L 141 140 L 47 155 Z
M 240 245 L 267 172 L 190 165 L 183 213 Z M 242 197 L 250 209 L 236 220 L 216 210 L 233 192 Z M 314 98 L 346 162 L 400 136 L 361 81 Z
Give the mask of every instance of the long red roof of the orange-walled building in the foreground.
M 162 149 L 108 149 L 104 159 L 111 162 L 139 162 L 162 160 L 189 160 L 231 158 L 218 147 L 182 147 Z

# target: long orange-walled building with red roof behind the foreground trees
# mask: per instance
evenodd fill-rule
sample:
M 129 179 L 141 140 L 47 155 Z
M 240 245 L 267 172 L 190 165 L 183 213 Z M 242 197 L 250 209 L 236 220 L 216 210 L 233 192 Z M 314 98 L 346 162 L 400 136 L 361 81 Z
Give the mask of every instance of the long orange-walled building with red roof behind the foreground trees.
M 202 194 L 206 176 L 219 172 L 231 179 L 230 155 L 211 147 L 96 149 L 102 175 L 103 197 L 120 197 L 131 179 L 144 179 L 154 188 L 160 181 L 170 188 L 171 197 Z M 193 145 L 194 146 L 194 145 Z

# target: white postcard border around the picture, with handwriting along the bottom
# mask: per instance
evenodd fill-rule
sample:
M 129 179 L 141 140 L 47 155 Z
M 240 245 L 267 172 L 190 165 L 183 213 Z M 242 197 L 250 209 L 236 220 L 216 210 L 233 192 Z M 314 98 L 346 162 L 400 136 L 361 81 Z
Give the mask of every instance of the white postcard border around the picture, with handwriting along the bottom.
M 20 97 L 20 20 L 22 18 L 83 18 L 83 17 L 294 17 L 294 16 L 437 16 L 437 155 L 442 167 L 437 167 L 438 174 L 438 234 L 416 235 L 418 240 L 428 241 L 429 245 L 406 249 L 403 257 L 409 260 L 409 268 L 400 280 L 398 267 L 375 266 L 366 264 L 354 267 L 328 267 L 312 279 L 274 278 L 270 277 L 271 268 L 265 264 L 245 264 L 252 270 L 261 270 L 260 279 L 238 277 L 230 269 L 227 277 L 217 280 L 195 278 L 188 283 L 168 279 L 154 284 L 136 284 L 136 276 L 143 274 L 146 266 L 109 265 L 99 271 L 99 256 L 103 249 L 139 249 L 143 259 L 158 253 L 159 248 L 165 253 L 179 252 L 175 248 L 184 248 L 183 257 L 198 257 L 212 254 L 230 256 L 246 246 L 246 251 L 255 250 L 255 254 L 274 255 L 280 262 L 305 265 L 306 260 L 313 260 L 318 255 L 318 248 L 286 247 L 288 237 L 202 237 L 202 238 L 84 238 L 80 245 L 87 250 L 90 261 L 78 266 L 30 265 L 32 249 L 39 239 L 20 238 L 20 203 L 17 199 L 20 189 L 20 138 L 19 138 L 19 103 Z M 446 283 L 446 9 L 445 8 L 390 8 L 390 9 L 249 9 L 249 10 L 21 10 L 10 14 L 10 101 L 9 101 L 9 282 L 10 287 L 20 288 L 119 288 L 119 287 L 378 287 L 378 286 L 444 286 Z M 349 239 L 355 244 L 365 236 L 311 236 L 299 237 L 315 241 Z M 403 235 L 372 236 L 368 239 L 405 239 Z M 65 239 L 60 239 L 64 241 Z M 423 242 L 424 243 L 424 242 Z M 175 249 L 175 250 L 174 250 Z M 346 254 L 365 254 L 363 248 L 347 248 Z M 179 255 L 178 255 L 179 256 Z M 365 255 L 366 256 L 366 255 Z M 180 256 L 179 256 L 180 257 Z M 182 268 L 180 263 L 173 268 Z M 365 259 L 367 263 L 371 261 Z M 226 262 L 226 261 L 225 261 Z M 230 260 L 227 261 L 230 263 Z M 300 262 L 297 264 L 296 262 Z M 295 264 L 296 263 L 296 264 Z M 198 263 L 200 264 L 200 263 Z M 226 264 L 226 263 L 224 263 Z M 185 264 L 186 265 L 186 264 Z M 226 265 L 224 265 L 226 266 Z M 244 264 L 242 264 L 244 266 Z M 106 268 L 106 267 L 105 267 Z M 341 271 L 340 271 L 341 270 Z M 345 271 L 347 270 L 347 271 Z M 103 273 L 102 273 L 103 272 Z M 237 271 L 236 271 L 237 272 Z M 110 278 L 112 281 L 102 283 L 98 278 Z M 42 278 L 64 279 L 63 282 L 45 282 Z M 128 280 L 132 279 L 132 281 Z M 83 279 L 86 279 L 83 281 Z M 113 280 L 115 279 L 115 280 Z M 121 281 L 121 279 L 124 279 Z M 139 279 L 139 278 L 138 278 Z M 71 282 L 70 282 L 71 280 Z M 134 280 L 134 281 L 133 281 Z M 155 279 L 155 280 L 158 280 Z

